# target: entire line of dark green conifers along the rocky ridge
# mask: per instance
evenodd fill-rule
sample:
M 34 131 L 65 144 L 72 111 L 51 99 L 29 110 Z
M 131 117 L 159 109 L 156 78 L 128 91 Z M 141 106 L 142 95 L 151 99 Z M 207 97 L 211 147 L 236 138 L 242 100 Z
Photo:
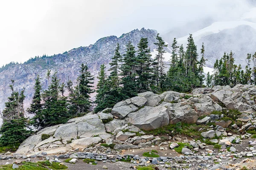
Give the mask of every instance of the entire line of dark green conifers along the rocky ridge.
M 27 109 L 28 113 L 35 116 L 26 118 L 23 108 L 25 99 L 24 89 L 19 93 L 14 90 L 15 82 L 11 80 L 9 86 L 12 90 L 11 96 L 5 103 L 2 112 L 3 125 L 0 128 L 0 147 L 17 148 L 17 146 L 32 133 L 32 127 L 40 130 L 44 127 L 67 122 L 68 119 L 84 115 L 90 111 L 95 113 L 104 108 L 111 108 L 117 102 L 137 96 L 138 93 L 152 91 L 161 93 L 163 91 L 190 92 L 194 88 L 213 85 L 255 84 L 256 82 L 256 54 L 247 55 L 247 67 L 245 70 L 234 65 L 232 51 L 224 54 L 220 60 L 216 60 L 214 74 L 205 79 L 204 66 L 207 59 L 204 57 L 204 44 L 201 47 L 201 58 L 197 46 L 192 38 L 188 37 L 186 49 L 183 45 L 177 46 L 174 39 L 171 49 L 171 60 L 169 69 L 166 69 L 164 60 L 165 48 L 168 46 L 162 37 L 157 34 L 157 54 L 152 57 L 151 49 L 148 47 L 147 38 L 141 38 L 137 50 L 128 42 L 125 45 L 124 54 L 120 54 L 117 44 L 110 63 L 110 74 L 106 74 L 106 66 L 100 66 L 99 82 L 96 87 L 96 100 L 90 100 L 93 90 L 93 75 L 90 74 L 88 66 L 81 64 L 76 86 L 71 80 L 61 83 L 57 72 L 51 75 L 47 71 L 46 78 L 49 86 L 43 91 L 41 78 L 35 79 L 32 103 Z M 253 68 L 251 68 L 251 59 Z M 65 96 L 67 91 L 68 95 Z M 93 104 L 96 104 L 94 110 Z

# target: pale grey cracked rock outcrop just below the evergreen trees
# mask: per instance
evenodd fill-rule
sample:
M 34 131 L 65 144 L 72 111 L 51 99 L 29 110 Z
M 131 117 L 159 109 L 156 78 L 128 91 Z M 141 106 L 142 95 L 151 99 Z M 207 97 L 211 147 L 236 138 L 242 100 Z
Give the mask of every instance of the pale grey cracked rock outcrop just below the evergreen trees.
M 151 144 L 160 144 L 161 139 L 143 135 L 143 130 L 154 130 L 177 122 L 198 125 L 215 122 L 214 130 L 202 128 L 199 130 L 201 135 L 204 138 L 227 136 L 230 134 L 227 134 L 224 128 L 229 127 L 232 120 L 221 119 L 223 115 L 210 113 L 227 109 L 246 112 L 237 119 L 245 122 L 241 129 L 236 124 L 232 125 L 232 128 L 240 131 L 255 129 L 255 120 L 249 114 L 255 112 L 255 95 L 256 87 L 251 85 L 195 89 L 193 94 L 166 91 L 158 95 L 145 92 L 118 102 L 113 108 L 106 108 L 97 114 L 88 113 L 70 119 L 66 124 L 44 128 L 20 144 L 17 153 L 84 150 L 99 142 L 116 144 L 115 148 L 118 150 L 150 147 Z M 204 117 L 198 119 L 200 116 Z M 42 140 L 42 134 L 50 137 Z

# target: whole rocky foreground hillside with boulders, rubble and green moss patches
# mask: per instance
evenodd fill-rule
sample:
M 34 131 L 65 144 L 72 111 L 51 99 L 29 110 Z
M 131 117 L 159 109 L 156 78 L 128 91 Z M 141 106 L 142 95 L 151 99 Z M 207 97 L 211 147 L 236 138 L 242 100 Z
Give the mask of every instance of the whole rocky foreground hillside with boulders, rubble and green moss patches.
M 192 94 L 144 92 L 113 108 L 44 128 L 16 153 L 0 158 L 86 159 L 90 164 L 118 160 L 137 169 L 252 169 L 255 161 L 243 158 L 256 155 L 251 134 L 256 134 L 255 96 L 252 85 L 198 88 Z

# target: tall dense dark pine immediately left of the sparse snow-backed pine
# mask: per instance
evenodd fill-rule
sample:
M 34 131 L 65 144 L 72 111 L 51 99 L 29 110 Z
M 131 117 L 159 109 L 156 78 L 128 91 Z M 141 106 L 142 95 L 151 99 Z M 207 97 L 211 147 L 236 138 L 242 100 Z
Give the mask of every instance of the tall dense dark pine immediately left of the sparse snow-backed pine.
M 137 55 L 137 88 L 138 92 L 151 91 L 151 54 L 150 48 L 148 48 L 148 39 L 141 38 L 138 44 L 138 55 Z

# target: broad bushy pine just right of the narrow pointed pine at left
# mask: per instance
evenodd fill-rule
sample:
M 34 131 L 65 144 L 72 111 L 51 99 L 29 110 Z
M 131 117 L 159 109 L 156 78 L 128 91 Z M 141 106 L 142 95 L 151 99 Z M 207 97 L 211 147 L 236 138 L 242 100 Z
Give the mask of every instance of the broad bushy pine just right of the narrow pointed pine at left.
M 44 119 L 40 123 L 41 128 L 65 123 L 70 117 L 67 110 L 67 97 L 60 96 L 60 88 L 60 79 L 55 72 L 52 75 L 51 84 L 42 94 L 44 101 L 42 117 Z

